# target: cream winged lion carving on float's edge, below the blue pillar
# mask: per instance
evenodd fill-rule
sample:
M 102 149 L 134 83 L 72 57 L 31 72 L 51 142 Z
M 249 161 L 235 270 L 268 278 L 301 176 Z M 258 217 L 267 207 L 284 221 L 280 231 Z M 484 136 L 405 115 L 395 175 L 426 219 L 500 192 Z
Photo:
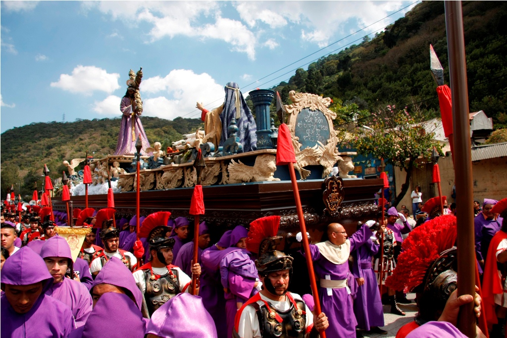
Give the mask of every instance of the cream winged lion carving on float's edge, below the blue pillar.
M 241 161 L 231 160 L 229 164 L 229 183 L 279 181 L 274 178 L 276 171 L 276 158 L 273 155 L 261 155 L 255 160 L 253 167 L 247 166 Z

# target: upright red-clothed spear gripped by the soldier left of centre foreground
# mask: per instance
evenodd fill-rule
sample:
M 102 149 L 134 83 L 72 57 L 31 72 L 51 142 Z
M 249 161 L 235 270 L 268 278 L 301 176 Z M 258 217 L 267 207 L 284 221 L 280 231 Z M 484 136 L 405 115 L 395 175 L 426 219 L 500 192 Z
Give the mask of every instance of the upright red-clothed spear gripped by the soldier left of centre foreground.
M 194 187 L 194 193 L 192 194 L 192 202 L 190 204 L 191 215 L 194 215 L 194 260 L 192 264 L 198 262 L 198 250 L 199 250 L 199 215 L 204 215 L 204 196 L 202 195 L 201 185 L 201 170 L 206 167 L 204 159 L 202 158 L 202 152 L 199 148 L 197 151 L 197 157 L 194 161 L 194 168 L 196 171 L 197 181 Z M 197 276 L 192 274 L 192 294 L 197 293 Z

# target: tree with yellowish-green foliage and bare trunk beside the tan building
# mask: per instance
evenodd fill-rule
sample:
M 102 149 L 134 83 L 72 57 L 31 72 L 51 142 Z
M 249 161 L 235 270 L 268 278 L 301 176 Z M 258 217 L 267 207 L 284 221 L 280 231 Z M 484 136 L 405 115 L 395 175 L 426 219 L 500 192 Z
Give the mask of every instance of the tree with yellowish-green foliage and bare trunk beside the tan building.
M 355 126 L 349 131 L 345 141 L 347 146 L 357 149 L 361 155 L 372 154 L 390 161 L 407 173 L 394 206 L 400 203 L 409 189 L 412 169 L 417 166 L 415 161 L 421 157 L 429 158 L 433 146 L 439 152 L 442 149 L 440 143 L 433 139 L 437 125 L 423 122 L 423 114 L 417 106 L 409 112 L 407 107 L 396 109 L 394 105 L 388 105 L 363 120 L 356 119 Z

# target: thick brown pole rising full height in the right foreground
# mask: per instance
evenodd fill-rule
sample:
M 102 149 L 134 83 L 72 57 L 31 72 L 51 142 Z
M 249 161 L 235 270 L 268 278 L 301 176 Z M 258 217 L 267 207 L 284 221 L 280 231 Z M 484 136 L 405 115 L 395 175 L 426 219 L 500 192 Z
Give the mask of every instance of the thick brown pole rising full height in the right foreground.
M 454 134 L 454 171 L 456 183 L 458 296 L 475 296 L 475 243 L 472 154 L 470 152 L 470 123 L 468 120 L 468 91 L 466 85 L 466 60 L 463 35 L 461 1 L 444 2 L 449 74 L 452 93 L 452 117 Z M 474 303 L 461 306 L 458 328 L 468 337 L 476 336 Z

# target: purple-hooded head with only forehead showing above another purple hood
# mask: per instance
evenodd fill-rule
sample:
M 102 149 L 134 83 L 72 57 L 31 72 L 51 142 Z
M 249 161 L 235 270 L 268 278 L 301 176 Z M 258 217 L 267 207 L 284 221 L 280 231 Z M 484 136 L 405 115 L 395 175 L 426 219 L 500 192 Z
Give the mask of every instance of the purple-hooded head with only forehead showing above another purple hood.
M 120 292 L 128 295 L 139 310 L 142 307 L 141 290 L 135 285 L 135 280 L 130 270 L 117 257 L 112 257 L 106 262 L 93 281 L 90 292 L 94 303 L 104 293 Z

